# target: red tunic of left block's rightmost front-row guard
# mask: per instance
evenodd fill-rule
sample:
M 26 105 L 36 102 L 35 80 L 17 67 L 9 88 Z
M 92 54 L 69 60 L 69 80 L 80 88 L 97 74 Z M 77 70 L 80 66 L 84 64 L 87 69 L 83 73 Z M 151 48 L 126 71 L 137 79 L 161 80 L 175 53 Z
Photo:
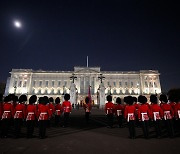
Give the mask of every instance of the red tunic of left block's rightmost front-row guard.
M 40 104 L 38 107 L 37 117 L 38 120 L 49 120 L 49 117 L 51 117 L 51 111 L 49 110 L 49 107 Z

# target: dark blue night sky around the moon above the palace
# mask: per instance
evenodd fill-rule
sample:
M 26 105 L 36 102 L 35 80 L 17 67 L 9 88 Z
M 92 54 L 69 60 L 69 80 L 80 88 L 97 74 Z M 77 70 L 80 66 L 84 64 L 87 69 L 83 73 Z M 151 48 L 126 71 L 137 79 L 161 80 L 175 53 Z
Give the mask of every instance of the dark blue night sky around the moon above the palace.
M 12 68 L 73 71 L 89 56 L 102 71 L 155 69 L 162 91 L 180 87 L 176 2 L 1 0 L 0 81 Z

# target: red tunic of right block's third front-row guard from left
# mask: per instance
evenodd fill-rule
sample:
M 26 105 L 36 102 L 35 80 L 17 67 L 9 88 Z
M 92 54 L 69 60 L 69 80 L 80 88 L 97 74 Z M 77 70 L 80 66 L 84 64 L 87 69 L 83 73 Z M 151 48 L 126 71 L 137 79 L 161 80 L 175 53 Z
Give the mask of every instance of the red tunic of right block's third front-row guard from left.
M 156 121 L 160 120 L 163 117 L 163 111 L 161 107 L 158 104 L 152 104 L 151 105 L 151 118 Z

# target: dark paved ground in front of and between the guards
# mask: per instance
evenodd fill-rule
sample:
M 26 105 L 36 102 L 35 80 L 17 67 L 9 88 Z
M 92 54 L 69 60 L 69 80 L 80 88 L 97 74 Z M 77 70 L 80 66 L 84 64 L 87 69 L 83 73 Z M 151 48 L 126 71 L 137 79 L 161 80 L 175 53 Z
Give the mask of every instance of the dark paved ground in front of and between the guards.
M 25 136 L 26 129 L 22 129 Z M 153 128 L 150 129 L 151 138 L 146 140 L 142 136 L 141 128 L 136 129 L 137 138 L 128 138 L 128 128 L 106 128 L 106 118 L 102 110 L 92 111 L 89 125 L 84 119 L 82 109 L 73 110 L 71 125 L 68 128 L 51 127 L 47 129 L 47 138 L 0 139 L 0 153 L 163 153 L 179 154 L 180 137 L 176 134 L 173 139 L 164 136 L 154 138 Z M 38 136 L 38 128 L 35 128 Z

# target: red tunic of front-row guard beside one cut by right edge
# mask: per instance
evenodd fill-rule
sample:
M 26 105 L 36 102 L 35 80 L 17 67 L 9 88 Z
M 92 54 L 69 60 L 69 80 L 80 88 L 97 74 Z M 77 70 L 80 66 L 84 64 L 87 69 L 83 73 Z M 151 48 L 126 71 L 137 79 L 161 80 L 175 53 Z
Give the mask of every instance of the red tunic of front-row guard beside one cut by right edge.
M 163 110 L 163 115 L 164 115 L 164 119 L 172 119 L 172 117 L 174 117 L 174 111 L 171 107 L 170 104 L 166 104 L 164 103 L 162 106 L 161 106 L 161 109 Z

